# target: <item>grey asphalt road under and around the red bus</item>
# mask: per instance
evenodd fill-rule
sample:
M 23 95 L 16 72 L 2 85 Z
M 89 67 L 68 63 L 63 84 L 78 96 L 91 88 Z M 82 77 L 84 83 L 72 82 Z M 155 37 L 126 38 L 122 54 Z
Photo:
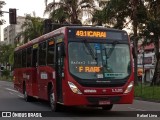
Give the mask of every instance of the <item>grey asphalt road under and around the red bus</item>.
M 0 112 L 15 112 L 27 114 L 40 113 L 41 119 L 64 119 L 73 120 L 78 119 L 107 119 L 128 120 L 127 117 L 135 120 L 139 117 L 143 119 L 153 119 L 160 116 L 160 103 L 134 100 L 131 105 L 114 105 L 111 111 L 104 111 L 100 108 L 90 107 L 64 107 L 61 112 L 51 112 L 47 102 L 35 100 L 34 102 L 25 102 L 23 95 L 15 91 L 11 82 L 0 81 Z M 17 115 L 17 114 L 15 114 Z M 47 116 L 47 117 L 45 117 Z M 1 119 L 1 118 L 0 118 Z M 17 117 L 15 118 L 17 119 Z M 25 119 L 25 118 L 23 118 Z M 156 118 L 154 118 L 156 119 Z

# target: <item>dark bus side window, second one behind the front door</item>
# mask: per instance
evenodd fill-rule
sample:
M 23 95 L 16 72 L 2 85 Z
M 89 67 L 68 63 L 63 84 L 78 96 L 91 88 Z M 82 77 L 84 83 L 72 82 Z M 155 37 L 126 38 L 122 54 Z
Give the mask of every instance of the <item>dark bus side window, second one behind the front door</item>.
M 39 44 L 39 65 L 46 65 L 46 42 Z

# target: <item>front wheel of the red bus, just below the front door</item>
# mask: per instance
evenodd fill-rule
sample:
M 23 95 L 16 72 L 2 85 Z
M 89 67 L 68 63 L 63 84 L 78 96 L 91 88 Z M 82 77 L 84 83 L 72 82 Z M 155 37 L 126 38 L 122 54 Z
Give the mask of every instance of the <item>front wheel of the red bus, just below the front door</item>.
M 54 112 L 58 112 L 58 104 L 56 103 L 55 94 L 52 91 L 52 89 L 50 90 L 50 94 L 49 94 L 49 102 L 50 102 L 51 110 Z

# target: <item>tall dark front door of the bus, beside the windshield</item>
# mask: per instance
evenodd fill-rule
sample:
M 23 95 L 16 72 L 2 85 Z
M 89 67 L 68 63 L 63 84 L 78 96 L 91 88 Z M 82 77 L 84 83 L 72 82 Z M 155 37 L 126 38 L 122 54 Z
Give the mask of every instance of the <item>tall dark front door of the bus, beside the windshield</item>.
M 63 77 L 63 65 L 64 56 L 62 55 L 63 43 L 56 44 L 56 91 L 57 101 L 63 103 L 63 91 L 62 91 L 62 77 Z

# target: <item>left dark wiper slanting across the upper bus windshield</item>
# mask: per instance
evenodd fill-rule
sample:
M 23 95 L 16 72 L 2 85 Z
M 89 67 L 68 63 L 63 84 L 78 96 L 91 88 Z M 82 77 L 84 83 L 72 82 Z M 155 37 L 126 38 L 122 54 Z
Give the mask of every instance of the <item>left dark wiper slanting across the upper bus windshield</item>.
M 92 56 L 92 58 L 97 62 L 98 58 L 97 58 L 96 54 L 94 53 L 94 51 L 93 51 L 92 47 L 90 46 L 90 44 L 87 42 L 87 40 L 84 40 L 83 43 L 84 43 L 85 47 L 88 49 L 88 51 L 89 51 L 90 55 Z

